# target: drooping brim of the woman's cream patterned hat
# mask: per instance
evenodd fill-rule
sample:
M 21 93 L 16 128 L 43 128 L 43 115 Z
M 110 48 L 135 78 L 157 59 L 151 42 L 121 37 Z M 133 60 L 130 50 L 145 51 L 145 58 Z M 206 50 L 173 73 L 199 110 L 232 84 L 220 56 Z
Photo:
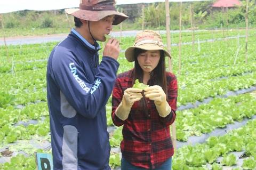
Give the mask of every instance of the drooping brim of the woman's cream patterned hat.
M 126 49 L 124 55 L 125 55 L 125 58 L 127 59 L 127 61 L 130 61 L 130 62 L 134 61 L 134 49 L 135 48 L 140 48 L 142 50 L 163 50 L 164 56 L 169 56 L 171 59 L 170 53 L 167 52 L 164 48 L 162 48 L 156 44 L 142 44 L 139 46 L 131 46 Z

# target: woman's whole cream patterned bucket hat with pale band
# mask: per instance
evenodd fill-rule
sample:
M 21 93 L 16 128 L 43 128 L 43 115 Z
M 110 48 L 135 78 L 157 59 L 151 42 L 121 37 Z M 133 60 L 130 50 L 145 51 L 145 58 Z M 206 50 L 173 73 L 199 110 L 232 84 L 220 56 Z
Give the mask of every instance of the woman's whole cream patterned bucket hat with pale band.
M 124 53 L 125 58 L 130 62 L 134 61 L 135 48 L 140 48 L 142 50 L 163 50 L 164 56 L 169 56 L 171 58 L 170 53 L 164 49 L 161 36 L 153 30 L 144 30 L 136 35 L 134 45 L 127 48 Z

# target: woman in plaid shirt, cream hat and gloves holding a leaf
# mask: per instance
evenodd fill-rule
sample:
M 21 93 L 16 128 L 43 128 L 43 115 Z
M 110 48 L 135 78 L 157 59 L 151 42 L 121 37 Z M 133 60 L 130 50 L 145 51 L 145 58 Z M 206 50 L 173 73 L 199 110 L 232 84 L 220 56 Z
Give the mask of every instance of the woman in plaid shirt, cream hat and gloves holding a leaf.
M 134 68 L 119 74 L 112 98 L 112 119 L 123 125 L 122 170 L 171 169 L 174 153 L 169 126 L 177 108 L 177 79 L 165 71 L 162 38 L 155 31 L 138 33 L 125 57 Z M 133 88 L 135 80 L 149 85 Z

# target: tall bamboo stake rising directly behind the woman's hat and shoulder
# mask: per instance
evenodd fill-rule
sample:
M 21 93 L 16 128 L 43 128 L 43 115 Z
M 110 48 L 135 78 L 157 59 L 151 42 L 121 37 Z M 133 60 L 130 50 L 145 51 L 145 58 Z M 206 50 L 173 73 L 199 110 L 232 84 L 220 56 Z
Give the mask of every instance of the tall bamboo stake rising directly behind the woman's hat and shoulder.
M 170 33 L 170 9 L 169 0 L 165 0 L 165 20 L 166 20 L 166 38 L 167 38 L 167 51 L 171 54 L 171 33 Z M 169 72 L 172 72 L 172 59 L 168 58 Z

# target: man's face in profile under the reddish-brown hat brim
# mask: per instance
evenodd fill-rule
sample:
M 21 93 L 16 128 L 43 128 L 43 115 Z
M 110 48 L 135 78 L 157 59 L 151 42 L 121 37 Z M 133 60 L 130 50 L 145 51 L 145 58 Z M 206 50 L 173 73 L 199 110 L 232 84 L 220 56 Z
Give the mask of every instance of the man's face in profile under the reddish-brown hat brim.
M 113 29 L 113 21 L 115 15 L 109 15 L 99 21 L 90 21 L 90 29 L 93 37 L 97 41 L 105 42 L 106 37 L 104 35 L 109 34 Z

